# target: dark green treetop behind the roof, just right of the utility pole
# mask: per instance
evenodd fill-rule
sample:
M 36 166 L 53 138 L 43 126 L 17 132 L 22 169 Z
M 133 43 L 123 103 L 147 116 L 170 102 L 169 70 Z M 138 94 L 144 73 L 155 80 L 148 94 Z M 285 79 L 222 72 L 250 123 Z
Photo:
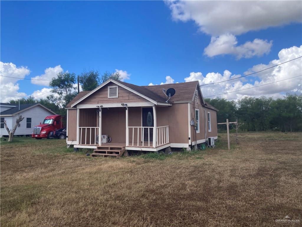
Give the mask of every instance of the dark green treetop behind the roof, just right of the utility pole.
M 81 84 L 82 90 L 94 90 L 101 83 L 100 73 L 98 71 L 83 71 L 79 75 L 79 83 Z

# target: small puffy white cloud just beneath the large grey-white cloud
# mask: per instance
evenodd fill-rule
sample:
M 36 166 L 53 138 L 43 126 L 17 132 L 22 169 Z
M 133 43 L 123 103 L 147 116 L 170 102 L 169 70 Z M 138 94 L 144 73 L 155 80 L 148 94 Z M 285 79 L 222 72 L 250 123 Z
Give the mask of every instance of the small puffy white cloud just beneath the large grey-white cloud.
M 214 57 L 220 54 L 233 54 L 240 58 L 251 58 L 253 56 L 261 56 L 271 51 L 272 41 L 254 39 L 247 41 L 242 45 L 237 45 L 237 38 L 234 35 L 220 35 L 212 37 L 210 44 L 204 49 L 204 54 Z

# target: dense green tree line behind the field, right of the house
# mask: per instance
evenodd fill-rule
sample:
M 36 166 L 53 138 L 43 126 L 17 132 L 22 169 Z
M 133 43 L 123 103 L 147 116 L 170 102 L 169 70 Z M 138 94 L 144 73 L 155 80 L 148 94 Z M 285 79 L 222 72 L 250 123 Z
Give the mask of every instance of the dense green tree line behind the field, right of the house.
M 219 111 L 217 123 L 236 121 L 244 123 L 239 130 L 281 132 L 302 131 L 302 95 L 286 94 L 282 99 L 262 96 L 244 97 L 237 101 L 224 98 L 205 99 Z M 226 130 L 226 126 L 218 127 Z

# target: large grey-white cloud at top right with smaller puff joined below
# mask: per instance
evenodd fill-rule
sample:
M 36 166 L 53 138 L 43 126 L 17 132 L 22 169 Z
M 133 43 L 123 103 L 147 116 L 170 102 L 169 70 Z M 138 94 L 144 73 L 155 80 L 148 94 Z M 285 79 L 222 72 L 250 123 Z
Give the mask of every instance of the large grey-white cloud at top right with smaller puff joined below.
M 251 58 L 270 52 L 272 42 L 254 39 L 237 45 L 236 35 L 268 27 L 301 23 L 301 1 L 167 1 L 175 21 L 194 21 L 211 35 L 207 56 L 233 54 Z

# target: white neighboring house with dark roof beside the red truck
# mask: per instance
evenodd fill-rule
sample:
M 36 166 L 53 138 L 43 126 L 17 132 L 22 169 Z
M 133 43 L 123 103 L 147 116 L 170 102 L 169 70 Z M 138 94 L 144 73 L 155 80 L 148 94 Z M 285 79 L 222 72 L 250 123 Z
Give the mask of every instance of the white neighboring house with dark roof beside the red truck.
M 18 104 L 0 103 L 0 137 L 8 136 L 4 120 L 6 120 L 8 129 L 11 130 L 16 124 L 16 119 L 22 115 L 24 119 L 20 122 L 14 135 L 31 135 L 35 126 L 43 122 L 45 117 L 53 114 L 56 113 L 40 103 L 20 104 L 20 107 Z

